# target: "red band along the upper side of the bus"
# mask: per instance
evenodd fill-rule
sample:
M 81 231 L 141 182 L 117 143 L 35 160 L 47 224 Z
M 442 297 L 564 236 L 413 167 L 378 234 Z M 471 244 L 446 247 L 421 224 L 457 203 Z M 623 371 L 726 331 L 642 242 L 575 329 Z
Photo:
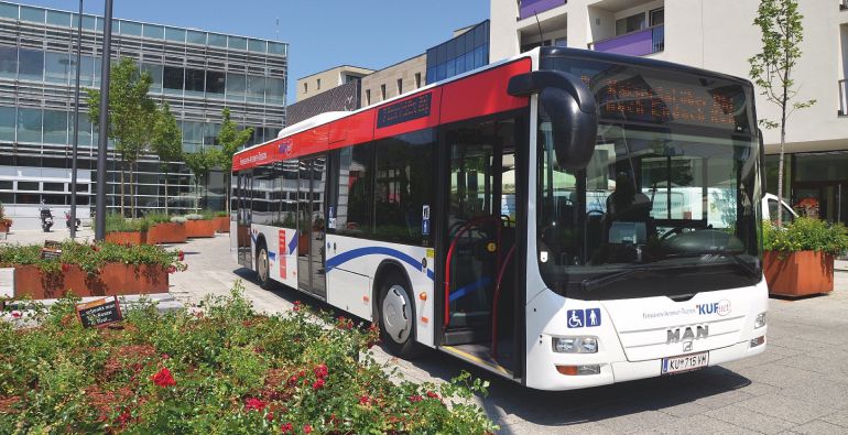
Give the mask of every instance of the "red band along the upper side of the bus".
M 530 70 L 530 57 L 522 57 L 360 109 L 239 151 L 232 157 L 232 171 L 526 107 L 530 98 L 509 95 L 507 85 L 511 77 Z

